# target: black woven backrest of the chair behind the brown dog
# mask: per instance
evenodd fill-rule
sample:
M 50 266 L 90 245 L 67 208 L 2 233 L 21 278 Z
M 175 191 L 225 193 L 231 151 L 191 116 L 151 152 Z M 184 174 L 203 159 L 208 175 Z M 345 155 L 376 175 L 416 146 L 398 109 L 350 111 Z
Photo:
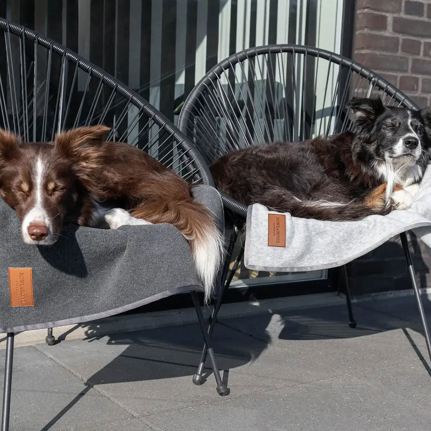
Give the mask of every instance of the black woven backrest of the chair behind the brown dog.
M 61 130 L 111 127 L 108 140 L 147 151 L 190 182 L 213 184 L 202 156 L 165 116 L 71 50 L 0 18 L 0 127 L 25 142 Z

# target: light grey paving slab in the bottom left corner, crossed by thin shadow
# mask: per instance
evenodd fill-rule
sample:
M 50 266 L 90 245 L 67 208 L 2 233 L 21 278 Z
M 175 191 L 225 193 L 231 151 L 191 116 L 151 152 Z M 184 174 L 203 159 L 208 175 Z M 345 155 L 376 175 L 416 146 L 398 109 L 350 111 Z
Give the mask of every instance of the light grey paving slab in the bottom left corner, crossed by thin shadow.
M 0 375 L 5 351 L 0 351 Z M 3 379 L 2 379 L 3 380 Z M 10 429 L 73 430 L 131 416 L 34 347 L 15 349 Z M 97 429 L 97 428 L 95 428 Z M 109 429 L 109 428 L 108 428 Z

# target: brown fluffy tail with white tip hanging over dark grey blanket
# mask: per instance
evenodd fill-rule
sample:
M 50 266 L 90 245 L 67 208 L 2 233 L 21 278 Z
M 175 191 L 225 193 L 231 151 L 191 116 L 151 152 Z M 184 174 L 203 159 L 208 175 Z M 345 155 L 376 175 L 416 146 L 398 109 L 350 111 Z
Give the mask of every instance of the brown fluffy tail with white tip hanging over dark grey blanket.
M 135 208 L 131 215 L 152 223 L 171 223 L 183 234 L 190 243 L 197 273 L 205 288 L 205 302 L 208 303 L 224 251 L 222 233 L 209 210 L 190 197 L 146 202 Z

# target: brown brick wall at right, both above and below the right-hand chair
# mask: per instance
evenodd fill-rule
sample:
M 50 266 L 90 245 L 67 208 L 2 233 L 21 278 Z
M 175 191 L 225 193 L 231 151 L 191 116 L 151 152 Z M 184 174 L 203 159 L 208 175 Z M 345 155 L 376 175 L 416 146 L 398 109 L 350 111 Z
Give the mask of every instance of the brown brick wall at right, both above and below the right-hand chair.
M 356 0 L 355 25 L 356 61 L 431 106 L 431 0 Z M 431 256 L 408 238 L 419 285 L 431 287 Z M 351 262 L 348 272 L 356 295 L 411 287 L 399 237 Z

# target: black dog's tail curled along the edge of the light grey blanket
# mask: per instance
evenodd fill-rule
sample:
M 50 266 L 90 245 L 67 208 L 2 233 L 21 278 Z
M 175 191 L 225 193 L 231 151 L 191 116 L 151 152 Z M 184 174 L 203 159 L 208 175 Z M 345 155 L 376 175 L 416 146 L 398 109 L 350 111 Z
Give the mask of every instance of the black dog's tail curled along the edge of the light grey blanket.
M 304 219 L 353 221 L 361 220 L 368 215 L 385 215 L 390 208 L 385 205 L 386 184 L 372 191 L 365 199 L 350 202 L 331 202 L 327 200 L 306 200 L 295 197 L 294 194 L 281 187 L 269 191 L 267 205 L 280 212 L 290 212 L 294 217 Z M 273 203 L 277 202 L 274 207 Z M 264 205 L 265 202 L 262 202 Z M 272 203 L 272 205 L 271 205 Z

